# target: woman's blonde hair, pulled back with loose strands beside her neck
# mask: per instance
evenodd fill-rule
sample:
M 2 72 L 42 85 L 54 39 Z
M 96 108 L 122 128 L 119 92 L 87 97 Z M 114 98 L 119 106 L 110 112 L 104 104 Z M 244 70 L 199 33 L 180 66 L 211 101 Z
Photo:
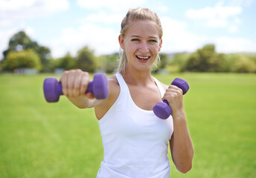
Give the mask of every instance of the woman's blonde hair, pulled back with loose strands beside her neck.
M 156 27 L 159 30 L 159 39 L 163 36 L 163 30 L 161 27 L 161 22 L 159 16 L 156 15 L 153 11 L 147 8 L 138 7 L 136 9 L 131 9 L 128 11 L 127 16 L 124 17 L 121 23 L 121 35 L 124 36 L 124 33 L 129 28 L 129 24 L 132 20 L 150 20 L 152 22 L 156 22 Z M 124 72 L 125 67 L 127 65 L 127 55 L 124 50 L 120 49 L 120 58 L 119 58 L 119 65 L 118 65 L 118 72 Z M 156 57 L 155 62 L 151 66 L 151 71 L 155 70 L 157 67 L 158 62 L 160 62 L 159 54 Z

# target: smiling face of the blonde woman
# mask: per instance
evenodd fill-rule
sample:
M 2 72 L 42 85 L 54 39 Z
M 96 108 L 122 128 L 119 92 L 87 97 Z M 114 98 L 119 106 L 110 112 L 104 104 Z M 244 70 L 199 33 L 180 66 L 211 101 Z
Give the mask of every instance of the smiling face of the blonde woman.
M 119 43 L 127 55 L 127 67 L 136 70 L 150 70 L 161 50 L 159 30 L 148 20 L 131 21 Z

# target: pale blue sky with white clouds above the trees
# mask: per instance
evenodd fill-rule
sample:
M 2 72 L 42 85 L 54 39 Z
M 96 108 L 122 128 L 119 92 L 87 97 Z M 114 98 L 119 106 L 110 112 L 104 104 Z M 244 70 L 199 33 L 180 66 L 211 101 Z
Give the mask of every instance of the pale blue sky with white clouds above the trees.
M 97 56 L 119 52 L 121 21 L 136 7 L 158 14 L 163 53 L 193 53 L 205 44 L 218 53 L 256 52 L 256 0 L 0 0 L 0 52 L 20 30 L 54 58 L 85 46 Z

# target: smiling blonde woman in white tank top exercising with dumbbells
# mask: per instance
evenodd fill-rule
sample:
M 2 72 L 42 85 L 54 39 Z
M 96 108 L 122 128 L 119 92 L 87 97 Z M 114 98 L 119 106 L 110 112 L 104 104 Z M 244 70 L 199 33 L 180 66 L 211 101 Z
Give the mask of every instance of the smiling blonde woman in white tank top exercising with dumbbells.
M 68 70 L 61 76 L 63 93 L 78 108 L 95 108 L 104 149 L 97 178 L 170 177 L 168 144 L 176 168 L 191 169 L 193 145 L 188 133 L 182 90 L 151 76 L 159 60 L 162 28 L 147 8 L 129 10 L 118 37 L 122 50 L 118 73 L 109 76 L 109 96 L 86 93 L 89 73 Z M 85 94 L 86 93 L 86 94 Z M 166 99 L 172 116 L 159 119 L 153 106 Z

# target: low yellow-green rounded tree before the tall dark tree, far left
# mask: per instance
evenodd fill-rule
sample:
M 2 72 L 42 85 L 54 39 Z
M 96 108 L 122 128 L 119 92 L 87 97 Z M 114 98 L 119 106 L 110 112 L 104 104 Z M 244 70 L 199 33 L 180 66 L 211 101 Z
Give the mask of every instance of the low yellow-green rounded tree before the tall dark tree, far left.
M 13 71 L 17 68 L 41 69 L 39 55 L 31 49 L 21 51 L 10 51 L 4 60 L 2 67 L 4 70 Z

